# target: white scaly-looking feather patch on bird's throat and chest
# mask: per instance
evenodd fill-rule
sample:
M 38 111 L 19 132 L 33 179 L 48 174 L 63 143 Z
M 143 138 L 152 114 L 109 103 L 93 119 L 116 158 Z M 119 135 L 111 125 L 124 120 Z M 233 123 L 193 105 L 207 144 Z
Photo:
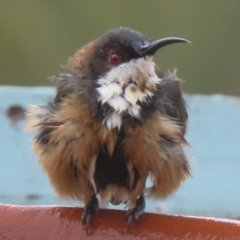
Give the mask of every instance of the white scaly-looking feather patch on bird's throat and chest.
M 124 114 L 140 118 L 142 109 L 139 102 L 153 96 L 156 84 L 160 81 L 152 57 L 134 59 L 113 67 L 98 80 L 98 100 L 114 110 L 103 119 L 103 124 L 109 129 L 120 129 Z

